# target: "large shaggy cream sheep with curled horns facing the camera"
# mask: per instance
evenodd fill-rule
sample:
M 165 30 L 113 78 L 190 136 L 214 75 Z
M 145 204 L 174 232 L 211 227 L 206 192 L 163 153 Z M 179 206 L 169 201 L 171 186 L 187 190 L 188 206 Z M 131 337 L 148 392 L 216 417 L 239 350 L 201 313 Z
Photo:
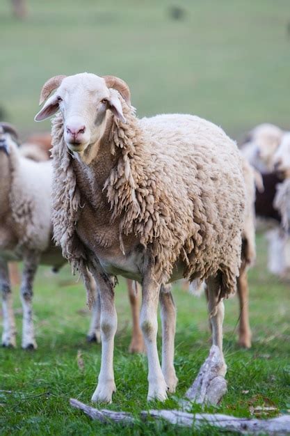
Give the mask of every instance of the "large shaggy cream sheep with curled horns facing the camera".
M 168 281 L 207 281 L 213 342 L 223 353 L 223 299 L 234 293 L 241 263 L 245 184 L 239 150 L 223 130 L 197 116 L 138 120 L 129 88 L 117 77 L 53 77 L 42 88 L 40 103 L 45 100 L 35 120 L 61 111 L 52 128 L 54 238 L 85 282 L 92 272 L 101 298 L 102 364 L 92 400 L 111 401 L 115 391 L 118 274 L 142 283 L 147 398 L 165 400 L 177 384 Z M 224 363 L 220 375 L 225 372 Z

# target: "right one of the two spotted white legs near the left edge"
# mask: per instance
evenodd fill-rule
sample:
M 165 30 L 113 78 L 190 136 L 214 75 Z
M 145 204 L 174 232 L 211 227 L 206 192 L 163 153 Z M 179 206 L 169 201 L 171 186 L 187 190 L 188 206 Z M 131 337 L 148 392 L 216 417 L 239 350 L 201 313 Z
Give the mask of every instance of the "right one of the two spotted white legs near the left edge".
M 26 253 L 20 287 L 20 298 L 23 309 L 22 348 L 28 350 L 37 348 L 33 326 L 32 297 L 33 280 L 35 272 L 38 269 L 39 258 L 40 255 L 35 253 L 35 251 Z

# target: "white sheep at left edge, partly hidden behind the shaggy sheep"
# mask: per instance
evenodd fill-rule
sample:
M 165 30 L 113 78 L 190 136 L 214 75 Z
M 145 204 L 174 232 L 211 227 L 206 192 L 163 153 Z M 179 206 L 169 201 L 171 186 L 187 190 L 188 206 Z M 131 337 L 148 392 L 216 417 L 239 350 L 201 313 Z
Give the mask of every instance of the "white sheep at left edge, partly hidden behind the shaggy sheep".
M 20 290 L 23 307 L 22 347 L 36 348 L 32 313 L 33 279 L 36 269 L 40 263 L 58 269 L 66 260 L 51 240 L 51 161 L 36 163 L 23 157 L 15 143 L 15 134 L 12 126 L 0 123 L 2 345 L 16 345 L 13 297 L 7 262 L 23 260 Z M 99 331 L 97 304 L 96 299 L 88 334 L 90 340 L 96 338 Z

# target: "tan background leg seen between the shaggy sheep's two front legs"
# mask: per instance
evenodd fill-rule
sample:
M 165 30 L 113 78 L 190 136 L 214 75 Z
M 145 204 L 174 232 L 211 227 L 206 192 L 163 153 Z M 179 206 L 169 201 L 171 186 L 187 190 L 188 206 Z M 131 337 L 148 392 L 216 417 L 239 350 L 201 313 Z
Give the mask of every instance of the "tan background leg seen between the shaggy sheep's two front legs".
M 135 283 L 135 286 L 137 286 L 137 283 Z M 140 319 L 139 319 L 140 309 L 139 309 L 138 288 L 134 289 L 134 283 L 131 280 L 127 280 L 127 287 L 128 287 L 132 320 L 133 320 L 133 331 L 132 331 L 131 343 L 129 346 L 129 352 L 144 352 L 144 341 L 140 329 Z

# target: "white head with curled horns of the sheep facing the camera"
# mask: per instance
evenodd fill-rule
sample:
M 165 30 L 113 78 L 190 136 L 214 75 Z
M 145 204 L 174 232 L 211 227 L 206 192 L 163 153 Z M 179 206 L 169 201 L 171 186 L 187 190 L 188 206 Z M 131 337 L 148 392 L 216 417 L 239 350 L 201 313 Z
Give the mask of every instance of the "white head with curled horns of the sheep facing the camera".
M 49 97 L 54 90 L 54 95 Z M 131 104 L 129 87 L 118 77 L 98 77 L 87 72 L 68 77 L 52 77 L 42 87 L 40 104 L 47 101 L 35 116 L 35 121 L 45 120 L 59 109 L 63 114 L 67 147 L 73 152 L 82 153 L 102 138 L 108 111 L 122 123 L 126 122 L 120 95 L 115 90 L 127 104 Z

